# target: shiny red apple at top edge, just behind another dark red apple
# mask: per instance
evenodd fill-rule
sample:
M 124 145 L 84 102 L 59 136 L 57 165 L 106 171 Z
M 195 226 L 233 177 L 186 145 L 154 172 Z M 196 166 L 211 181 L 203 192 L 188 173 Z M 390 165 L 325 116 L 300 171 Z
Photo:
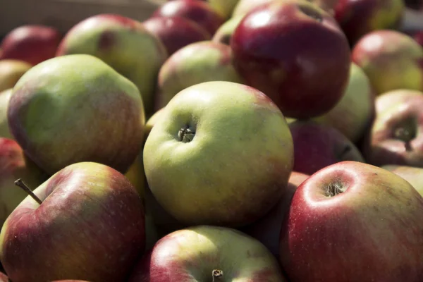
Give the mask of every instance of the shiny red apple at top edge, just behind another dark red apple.
M 212 6 L 204 1 L 173 0 L 162 4 L 153 13 L 153 17 L 179 16 L 188 18 L 204 27 L 210 35 L 225 22 L 225 18 L 214 11 Z

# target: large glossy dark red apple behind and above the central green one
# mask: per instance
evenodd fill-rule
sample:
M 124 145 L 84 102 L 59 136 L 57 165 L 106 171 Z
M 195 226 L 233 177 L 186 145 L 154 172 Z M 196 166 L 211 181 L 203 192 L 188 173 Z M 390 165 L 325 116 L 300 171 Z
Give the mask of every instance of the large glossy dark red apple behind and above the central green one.
M 329 13 L 307 1 L 255 8 L 236 27 L 231 47 L 247 85 L 264 92 L 288 117 L 326 114 L 348 85 L 348 41 Z

